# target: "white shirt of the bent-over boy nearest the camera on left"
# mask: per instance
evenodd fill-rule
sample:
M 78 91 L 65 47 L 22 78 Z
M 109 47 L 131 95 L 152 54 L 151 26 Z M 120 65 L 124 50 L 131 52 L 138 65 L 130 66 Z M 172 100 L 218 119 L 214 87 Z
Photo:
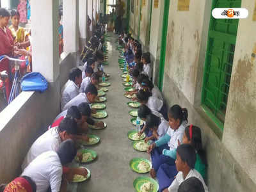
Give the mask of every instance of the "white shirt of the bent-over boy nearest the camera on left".
M 36 184 L 36 192 L 59 192 L 62 165 L 58 154 L 52 150 L 40 154 L 24 170 L 21 176 L 28 176 Z

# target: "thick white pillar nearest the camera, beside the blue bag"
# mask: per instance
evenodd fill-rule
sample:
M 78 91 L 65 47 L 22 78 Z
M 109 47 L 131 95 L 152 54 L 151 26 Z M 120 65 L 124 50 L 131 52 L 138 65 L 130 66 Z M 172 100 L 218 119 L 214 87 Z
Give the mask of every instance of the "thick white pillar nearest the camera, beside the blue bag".
M 31 1 L 31 26 L 33 71 L 54 82 L 60 74 L 58 1 Z

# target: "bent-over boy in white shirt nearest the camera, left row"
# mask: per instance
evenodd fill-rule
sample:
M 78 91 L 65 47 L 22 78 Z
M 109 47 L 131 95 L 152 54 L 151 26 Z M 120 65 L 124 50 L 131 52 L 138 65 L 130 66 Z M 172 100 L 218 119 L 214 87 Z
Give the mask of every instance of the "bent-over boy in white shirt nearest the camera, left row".
M 65 191 L 67 180 L 62 180 L 62 166 L 70 163 L 76 156 L 74 141 L 66 140 L 61 143 L 56 152 L 50 150 L 36 157 L 22 172 L 21 176 L 33 178 L 36 184 L 36 192 L 46 192 L 51 188 L 52 192 Z

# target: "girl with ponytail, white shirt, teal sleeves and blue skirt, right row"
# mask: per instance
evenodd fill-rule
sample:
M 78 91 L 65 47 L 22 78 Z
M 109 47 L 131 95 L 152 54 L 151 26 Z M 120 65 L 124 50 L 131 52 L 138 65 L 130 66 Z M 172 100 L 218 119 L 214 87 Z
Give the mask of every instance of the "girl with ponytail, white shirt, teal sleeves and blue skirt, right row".
M 156 177 L 156 172 L 161 164 L 174 164 L 175 159 L 164 156 L 162 152 L 164 148 L 173 150 L 178 147 L 179 141 L 183 138 L 184 125 L 188 122 L 188 110 L 180 108 L 179 105 L 174 105 L 168 111 L 168 119 L 170 127 L 167 133 L 148 147 L 153 166 L 152 170 L 150 170 L 151 177 Z

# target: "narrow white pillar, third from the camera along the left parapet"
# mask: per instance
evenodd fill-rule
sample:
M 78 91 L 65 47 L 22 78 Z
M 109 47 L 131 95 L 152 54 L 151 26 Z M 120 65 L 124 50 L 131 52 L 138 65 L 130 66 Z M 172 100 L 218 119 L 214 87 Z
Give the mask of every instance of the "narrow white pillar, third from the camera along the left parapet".
M 86 38 L 87 1 L 79 0 L 79 33 L 80 38 Z

